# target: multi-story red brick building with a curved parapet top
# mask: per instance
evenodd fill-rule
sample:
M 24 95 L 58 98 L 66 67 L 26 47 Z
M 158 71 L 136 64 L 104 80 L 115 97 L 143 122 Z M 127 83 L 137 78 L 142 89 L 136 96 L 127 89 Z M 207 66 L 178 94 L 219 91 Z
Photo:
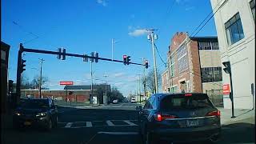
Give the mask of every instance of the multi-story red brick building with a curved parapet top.
M 168 67 L 162 74 L 165 92 L 222 93 L 217 37 L 190 38 L 187 33 L 174 34 L 168 51 Z

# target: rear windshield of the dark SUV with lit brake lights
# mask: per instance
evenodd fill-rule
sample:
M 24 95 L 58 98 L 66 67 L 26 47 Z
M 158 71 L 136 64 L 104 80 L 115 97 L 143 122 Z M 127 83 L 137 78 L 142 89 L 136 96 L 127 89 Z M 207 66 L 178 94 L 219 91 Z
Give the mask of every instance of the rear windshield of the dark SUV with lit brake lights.
M 198 109 L 198 108 L 212 108 L 213 104 L 210 102 L 206 94 L 172 94 L 168 95 L 161 101 L 162 110 L 173 109 Z

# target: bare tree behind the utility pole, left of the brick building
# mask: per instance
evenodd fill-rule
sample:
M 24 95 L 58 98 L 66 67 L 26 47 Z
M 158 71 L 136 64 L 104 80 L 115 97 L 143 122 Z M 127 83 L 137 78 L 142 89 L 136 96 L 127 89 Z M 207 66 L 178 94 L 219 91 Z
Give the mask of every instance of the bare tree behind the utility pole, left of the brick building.
M 161 74 L 158 73 L 158 87 L 161 84 Z M 146 76 L 146 87 L 147 90 L 150 90 L 151 93 L 155 93 L 155 85 L 154 85 L 154 69 L 151 69 Z

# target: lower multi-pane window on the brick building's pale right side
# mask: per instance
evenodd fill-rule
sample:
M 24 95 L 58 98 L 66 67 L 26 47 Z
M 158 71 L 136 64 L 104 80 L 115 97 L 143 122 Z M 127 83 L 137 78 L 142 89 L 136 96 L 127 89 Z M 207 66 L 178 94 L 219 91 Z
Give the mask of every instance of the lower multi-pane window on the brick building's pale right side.
M 222 67 L 201 68 L 202 82 L 221 82 Z

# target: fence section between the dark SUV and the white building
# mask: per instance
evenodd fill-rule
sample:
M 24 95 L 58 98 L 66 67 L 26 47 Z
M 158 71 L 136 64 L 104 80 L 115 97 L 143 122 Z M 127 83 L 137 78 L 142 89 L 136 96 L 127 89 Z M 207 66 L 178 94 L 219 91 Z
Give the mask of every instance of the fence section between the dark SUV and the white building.
M 223 107 L 223 90 L 206 90 L 206 94 L 209 96 L 210 101 L 214 103 L 214 106 Z

